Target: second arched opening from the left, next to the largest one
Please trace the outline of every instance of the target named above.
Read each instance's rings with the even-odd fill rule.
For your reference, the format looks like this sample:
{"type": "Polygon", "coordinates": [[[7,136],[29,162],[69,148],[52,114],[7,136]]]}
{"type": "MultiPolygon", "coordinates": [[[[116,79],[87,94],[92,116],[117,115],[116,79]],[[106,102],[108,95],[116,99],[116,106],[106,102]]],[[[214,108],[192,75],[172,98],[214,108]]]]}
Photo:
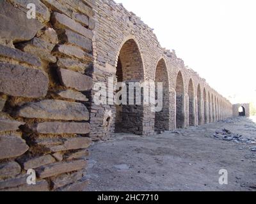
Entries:
{"type": "Polygon", "coordinates": [[[156,97],[157,97],[157,82],[163,83],[163,109],[155,114],[155,130],[169,130],[170,121],[170,96],[169,96],[169,81],[168,72],[164,59],[157,63],[156,67],[156,97]]]}

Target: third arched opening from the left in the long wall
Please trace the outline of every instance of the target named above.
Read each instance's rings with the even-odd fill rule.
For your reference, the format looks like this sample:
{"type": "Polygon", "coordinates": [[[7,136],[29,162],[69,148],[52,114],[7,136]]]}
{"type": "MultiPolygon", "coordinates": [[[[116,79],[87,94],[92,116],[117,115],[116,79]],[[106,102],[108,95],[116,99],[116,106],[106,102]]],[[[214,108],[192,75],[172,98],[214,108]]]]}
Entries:
{"type": "Polygon", "coordinates": [[[179,71],[176,80],[176,128],[184,128],[184,82],[181,72],[179,71]]]}

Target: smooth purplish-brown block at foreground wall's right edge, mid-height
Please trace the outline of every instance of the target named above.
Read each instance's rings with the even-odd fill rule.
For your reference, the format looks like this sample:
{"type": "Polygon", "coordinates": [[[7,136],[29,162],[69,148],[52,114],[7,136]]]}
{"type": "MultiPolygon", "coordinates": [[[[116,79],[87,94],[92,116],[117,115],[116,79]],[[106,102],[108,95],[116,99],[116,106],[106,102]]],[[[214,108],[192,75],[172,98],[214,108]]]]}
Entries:
{"type": "Polygon", "coordinates": [[[61,84],[71,87],[77,91],[88,91],[92,89],[92,78],[68,69],[58,69],[61,84]]]}

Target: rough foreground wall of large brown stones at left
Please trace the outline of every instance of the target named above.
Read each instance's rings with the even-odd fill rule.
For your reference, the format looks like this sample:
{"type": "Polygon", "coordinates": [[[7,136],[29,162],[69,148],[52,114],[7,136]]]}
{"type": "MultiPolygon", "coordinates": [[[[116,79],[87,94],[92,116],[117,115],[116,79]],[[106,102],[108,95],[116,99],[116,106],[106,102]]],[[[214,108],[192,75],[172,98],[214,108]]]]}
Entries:
{"type": "Polygon", "coordinates": [[[81,191],[88,184],[94,6],[0,1],[1,191],[81,191]],[[29,3],[36,19],[27,17],[29,3]],[[26,182],[29,169],[36,185],[26,182]]]}

